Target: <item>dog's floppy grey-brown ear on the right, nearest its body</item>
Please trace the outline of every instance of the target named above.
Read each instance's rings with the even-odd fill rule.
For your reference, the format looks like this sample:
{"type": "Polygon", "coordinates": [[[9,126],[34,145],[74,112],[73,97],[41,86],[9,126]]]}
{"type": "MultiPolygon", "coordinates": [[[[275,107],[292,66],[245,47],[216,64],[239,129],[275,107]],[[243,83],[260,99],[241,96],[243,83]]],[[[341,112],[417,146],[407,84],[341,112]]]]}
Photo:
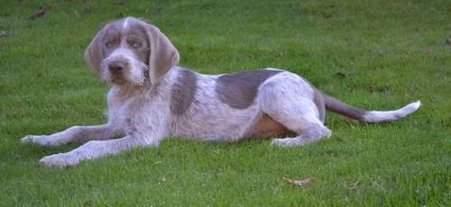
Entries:
{"type": "Polygon", "coordinates": [[[157,27],[146,24],[146,29],[151,44],[149,76],[152,85],[155,85],[171,67],[179,63],[179,51],[157,27]]]}

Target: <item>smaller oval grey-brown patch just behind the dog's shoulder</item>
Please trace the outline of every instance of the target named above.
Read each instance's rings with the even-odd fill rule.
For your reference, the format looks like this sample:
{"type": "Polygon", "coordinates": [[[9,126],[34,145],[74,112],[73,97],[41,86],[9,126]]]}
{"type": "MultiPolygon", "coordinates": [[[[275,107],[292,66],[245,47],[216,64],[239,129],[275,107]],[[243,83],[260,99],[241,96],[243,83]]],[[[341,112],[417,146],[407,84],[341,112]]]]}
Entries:
{"type": "Polygon", "coordinates": [[[196,74],[188,69],[181,69],[176,84],[170,91],[170,111],[176,115],[182,115],[194,100],[198,90],[196,74]]]}

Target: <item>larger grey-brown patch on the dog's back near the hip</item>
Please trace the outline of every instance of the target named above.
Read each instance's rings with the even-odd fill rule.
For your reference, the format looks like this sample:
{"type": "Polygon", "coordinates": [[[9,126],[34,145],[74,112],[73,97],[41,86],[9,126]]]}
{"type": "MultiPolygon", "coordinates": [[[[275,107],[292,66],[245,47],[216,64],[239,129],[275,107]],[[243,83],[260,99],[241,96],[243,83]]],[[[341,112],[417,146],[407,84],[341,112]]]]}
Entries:
{"type": "Polygon", "coordinates": [[[253,103],[262,82],[281,72],[283,71],[266,69],[219,76],[216,94],[222,103],[227,103],[235,109],[245,109],[253,103]]]}

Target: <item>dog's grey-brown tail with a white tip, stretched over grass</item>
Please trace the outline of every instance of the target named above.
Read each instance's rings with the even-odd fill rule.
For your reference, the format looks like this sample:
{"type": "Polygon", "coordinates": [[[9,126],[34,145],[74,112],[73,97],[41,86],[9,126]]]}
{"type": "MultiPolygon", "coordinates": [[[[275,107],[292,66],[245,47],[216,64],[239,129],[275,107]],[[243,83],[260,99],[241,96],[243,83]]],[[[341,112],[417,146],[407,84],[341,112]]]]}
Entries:
{"type": "Polygon", "coordinates": [[[352,105],[338,101],[327,94],[324,94],[324,103],[326,105],[326,109],[331,112],[336,112],[354,120],[367,122],[398,120],[404,116],[409,115],[412,112],[417,111],[417,109],[419,109],[419,106],[421,105],[421,103],[417,101],[407,104],[406,106],[394,111],[365,111],[363,109],[359,109],[352,105]]]}

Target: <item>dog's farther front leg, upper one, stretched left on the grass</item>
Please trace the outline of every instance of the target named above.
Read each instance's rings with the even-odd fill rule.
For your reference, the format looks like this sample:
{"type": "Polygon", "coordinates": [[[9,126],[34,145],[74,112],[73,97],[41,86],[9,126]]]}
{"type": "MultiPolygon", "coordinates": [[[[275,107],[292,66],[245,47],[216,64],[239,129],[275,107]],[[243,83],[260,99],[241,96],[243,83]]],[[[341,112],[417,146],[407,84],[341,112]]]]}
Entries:
{"type": "Polygon", "coordinates": [[[71,142],[85,142],[90,139],[113,139],[117,135],[123,134],[111,124],[73,126],[51,135],[27,135],[21,139],[21,142],[33,142],[41,146],[59,146],[71,142]]]}

